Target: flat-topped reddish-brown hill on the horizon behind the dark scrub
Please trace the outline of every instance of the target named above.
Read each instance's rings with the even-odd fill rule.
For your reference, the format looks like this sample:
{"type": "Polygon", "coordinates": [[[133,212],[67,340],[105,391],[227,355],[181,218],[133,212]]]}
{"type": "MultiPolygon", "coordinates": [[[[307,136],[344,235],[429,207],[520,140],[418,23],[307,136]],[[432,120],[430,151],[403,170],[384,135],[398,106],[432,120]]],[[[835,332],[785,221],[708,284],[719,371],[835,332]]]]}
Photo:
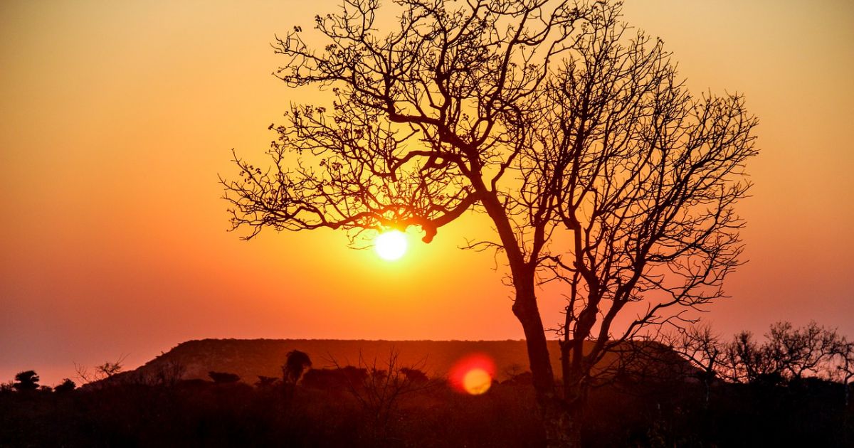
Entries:
{"type": "MultiPolygon", "coordinates": [[[[651,346],[645,344],[644,346],[651,346]]],[[[668,349],[652,345],[660,353],[659,359],[679,369],[687,364],[668,349]]],[[[496,366],[497,379],[504,380],[510,374],[528,370],[528,355],[524,340],[238,340],[205,339],[188,340],[161,354],[138,369],[125,375],[157,375],[170,364],[184,367],[184,379],[208,380],[208,372],[231,372],[240,375],[242,381],[254,383],[258,375],[280,377],[285,356],[291,350],[306,352],[312,359],[313,368],[359,364],[360,356],[366,364],[382,365],[393,350],[398,353],[398,365],[423,366],[430,376],[447,374],[460,358],[472,353],[483,353],[492,358],[496,366]]],[[[560,373],[558,341],[549,341],[549,353],[555,374],[560,373]]],[[[607,364],[615,357],[606,358],[607,364]]],[[[672,369],[672,368],[671,368],[672,369]]]]}

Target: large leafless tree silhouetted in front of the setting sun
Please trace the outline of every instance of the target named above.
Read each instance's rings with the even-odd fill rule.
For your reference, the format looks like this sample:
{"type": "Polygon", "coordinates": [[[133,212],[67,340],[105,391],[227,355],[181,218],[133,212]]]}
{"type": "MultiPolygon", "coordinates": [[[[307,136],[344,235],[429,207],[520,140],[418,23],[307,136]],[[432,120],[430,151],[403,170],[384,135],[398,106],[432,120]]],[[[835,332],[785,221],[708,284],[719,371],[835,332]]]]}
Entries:
{"type": "Polygon", "coordinates": [[[235,157],[240,177],[222,181],[233,227],[251,238],[418,226],[430,242],[464,212],[486,213],[494,238],[470,247],[506,256],[548,443],[578,445],[594,364],[720,297],[739,265],[734,205],[756,120],[740,96],[688,93],[619,3],[395,3],[393,32],[378,30],[377,1],[347,0],[317,17],[323,49],[298,26],[277,39],[278,77],[334,100],[271,126],[272,167],[235,157]],[[542,282],[567,297],[561,388],[542,282]],[[636,317],[617,328],[621,312],[636,317]]]}

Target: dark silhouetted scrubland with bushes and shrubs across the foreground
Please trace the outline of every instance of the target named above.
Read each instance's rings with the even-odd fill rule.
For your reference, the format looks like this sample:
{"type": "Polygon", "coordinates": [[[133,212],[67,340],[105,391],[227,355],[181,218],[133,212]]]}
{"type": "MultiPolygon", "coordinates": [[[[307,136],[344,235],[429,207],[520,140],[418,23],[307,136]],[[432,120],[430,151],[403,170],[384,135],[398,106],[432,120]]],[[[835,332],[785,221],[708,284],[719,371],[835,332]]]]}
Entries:
{"type": "MultiPolygon", "coordinates": [[[[665,337],[693,368],[667,369],[662,357],[664,368],[611,372],[588,397],[582,442],[851,446],[851,342],[816,323],[775,323],[764,336],[694,327],[665,337]]],[[[0,386],[0,446],[545,444],[529,372],[506,369],[471,396],[400,359],[313,369],[292,350],[278,377],[210,371],[209,381],[184,379],[179,365],[118,375],[116,361],[81,387],[41,386],[26,370],[0,386]]]]}

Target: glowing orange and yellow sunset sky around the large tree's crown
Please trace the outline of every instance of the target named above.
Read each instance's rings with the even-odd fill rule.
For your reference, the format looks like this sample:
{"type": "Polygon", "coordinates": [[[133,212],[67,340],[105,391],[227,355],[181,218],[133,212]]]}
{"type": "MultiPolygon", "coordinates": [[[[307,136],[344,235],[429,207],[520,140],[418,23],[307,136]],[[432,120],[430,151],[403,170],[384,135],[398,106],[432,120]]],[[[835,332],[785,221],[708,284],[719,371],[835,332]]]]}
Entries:
{"type": "MultiPolygon", "coordinates": [[[[274,34],[336,1],[0,3],[0,381],[44,384],[202,338],[519,339],[488,232],[466,217],[389,262],[329,230],[229,233],[217,175],[289,102],[274,34]]],[[[694,92],[760,119],[750,262],[708,307],[722,335],[818,323],[854,337],[854,3],[627,0],[694,92]]],[[[544,297],[547,324],[560,301],[544,297]]]]}

